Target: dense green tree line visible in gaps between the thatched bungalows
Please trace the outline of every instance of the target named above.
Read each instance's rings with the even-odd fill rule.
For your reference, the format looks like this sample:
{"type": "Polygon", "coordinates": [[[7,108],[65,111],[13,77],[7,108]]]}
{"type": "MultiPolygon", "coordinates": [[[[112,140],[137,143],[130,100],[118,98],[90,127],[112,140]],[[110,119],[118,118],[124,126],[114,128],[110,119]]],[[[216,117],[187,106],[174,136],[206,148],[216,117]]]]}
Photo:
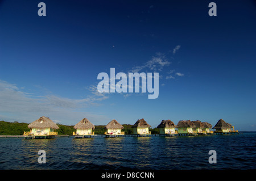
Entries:
{"type": "MultiPolygon", "coordinates": [[[[73,132],[76,131],[74,129],[74,125],[63,125],[57,124],[60,129],[57,129],[58,135],[72,135],[73,132]]],[[[27,127],[28,123],[18,123],[14,121],[13,123],[7,121],[0,121],[0,135],[23,135],[24,131],[30,131],[30,128],[27,127]]],[[[123,129],[122,131],[125,134],[133,134],[133,125],[131,124],[122,124],[123,129]]],[[[106,129],[104,129],[105,125],[96,125],[94,134],[104,134],[106,129]]],[[[157,128],[150,128],[151,134],[159,134],[159,129],[157,128]]]]}

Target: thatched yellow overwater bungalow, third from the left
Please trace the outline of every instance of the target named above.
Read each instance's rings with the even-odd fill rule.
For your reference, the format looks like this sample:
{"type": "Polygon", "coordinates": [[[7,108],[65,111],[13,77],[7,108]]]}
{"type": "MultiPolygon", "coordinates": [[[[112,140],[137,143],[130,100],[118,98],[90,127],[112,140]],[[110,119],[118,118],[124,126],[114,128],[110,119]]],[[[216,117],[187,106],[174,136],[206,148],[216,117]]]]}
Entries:
{"type": "Polygon", "coordinates": [[[107,124],[104,129],[107,129],[105,132],[106,137],[122,137],[125,136],[125,132],[122,132],[123,126],[117,122],[117,120],[112,120],[107,124]]]}

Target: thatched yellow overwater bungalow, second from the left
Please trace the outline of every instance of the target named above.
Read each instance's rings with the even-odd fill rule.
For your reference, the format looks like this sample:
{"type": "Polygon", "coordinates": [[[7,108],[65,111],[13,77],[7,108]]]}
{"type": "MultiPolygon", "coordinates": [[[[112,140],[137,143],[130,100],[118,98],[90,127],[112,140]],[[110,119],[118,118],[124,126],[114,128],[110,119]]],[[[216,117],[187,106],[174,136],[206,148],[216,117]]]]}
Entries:
{"type": "Polygon", "coordinates": [[[76,132],[73,132],[75,138],[91,138],[94,136],[92,129],[95,129],[95,126],[86,118],[79,121],[74,128],[76,129],[76,132]]]}

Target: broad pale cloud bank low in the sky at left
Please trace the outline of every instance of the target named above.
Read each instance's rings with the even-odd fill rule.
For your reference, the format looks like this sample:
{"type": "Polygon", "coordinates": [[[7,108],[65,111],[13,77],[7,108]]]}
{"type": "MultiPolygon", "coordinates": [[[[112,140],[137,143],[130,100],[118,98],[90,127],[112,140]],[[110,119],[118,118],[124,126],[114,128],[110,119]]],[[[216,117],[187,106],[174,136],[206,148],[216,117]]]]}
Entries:
{"type": "Polygon", "coordinates": [[[97,93],[86,99],[61,98],[56,95],[31,96],[20,91],[16,85],[0,80],[0,120],[31,123],[40,116],[49,116],[61,124],[73,121],[75,125],[84,117],[97,122],[107,118],[85,110],[104,99],[108,99],[108,96],[97,93]]]}

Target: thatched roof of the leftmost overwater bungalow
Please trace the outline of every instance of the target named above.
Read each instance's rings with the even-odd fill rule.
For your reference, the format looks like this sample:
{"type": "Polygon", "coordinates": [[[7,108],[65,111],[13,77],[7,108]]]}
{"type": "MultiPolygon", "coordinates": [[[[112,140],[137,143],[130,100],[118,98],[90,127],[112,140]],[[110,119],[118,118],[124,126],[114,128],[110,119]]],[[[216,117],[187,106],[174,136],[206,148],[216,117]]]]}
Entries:
{"type": "Polygon", "coordinates": [[[59,129],[56,123],[53,123],[51,119],[48,117],[40,117],[38,120],[35,120],[34,122],[28,124],[28,128],[53,128],[53,129],[59,129]]]}

